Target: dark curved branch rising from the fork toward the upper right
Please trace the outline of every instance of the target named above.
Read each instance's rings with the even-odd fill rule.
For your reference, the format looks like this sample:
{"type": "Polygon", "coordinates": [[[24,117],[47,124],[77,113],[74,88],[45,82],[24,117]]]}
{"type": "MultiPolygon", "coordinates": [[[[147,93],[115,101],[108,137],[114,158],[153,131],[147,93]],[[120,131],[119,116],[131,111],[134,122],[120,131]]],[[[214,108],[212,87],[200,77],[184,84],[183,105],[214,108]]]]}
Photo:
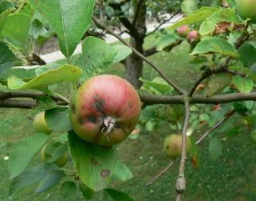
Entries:
{"type": "MultiPolygon", "coordinates": [[[[249,23],[247,22],[247,25],[245,26],[245,30],[247,30],[248,26],[249,26],[249,23]]],[[[247,39],[249,39],[249,33],[247,31],[245,31],[236,40],[236,43],[234,45],[235,48],[238,49],[238,47],[240,47],[242,45],[242,43],[244,43],[244,41],[247,41],[247,39]]],[[[196,81],[196,83],[194,84],[194,86],[190,90],[190,93],[188,94],[188,96],[191,97],[193,95],[194,91],[196,91],[196,87],[198,87],[198,85],[203,80],[207,79],[207,77],[211,76],[212,74],[217,74],[217,73],[220,73],[220,72],[227,72],[228,71],[228,64],[229,64],[230,60],[232,60],[232,57],[228,56],[228,58],[226,58],[225,62],[220,64],[217,68],[207,68],[205,70],[205,72],[202,73],[202,76],[200,77],[200,79],[198,79],[198,81],[196,81]]],[[[232,73],[232,71],[228,71],[228,72],[232,73]]]]}

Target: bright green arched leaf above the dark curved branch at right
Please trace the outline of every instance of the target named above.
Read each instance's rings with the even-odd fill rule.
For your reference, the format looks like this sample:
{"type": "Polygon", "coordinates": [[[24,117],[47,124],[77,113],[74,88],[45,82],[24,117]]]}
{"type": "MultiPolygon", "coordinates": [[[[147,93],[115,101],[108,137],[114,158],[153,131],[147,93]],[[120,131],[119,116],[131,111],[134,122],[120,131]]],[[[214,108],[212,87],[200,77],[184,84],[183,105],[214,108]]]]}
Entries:
{"type": "Polygon", "coordinates": [[[190,55],[197,53],[220,53],[222,55],[230,55],[238,58],[238,51],[227,41],[219,38],[209,38],[200,41],[190,55]]]}

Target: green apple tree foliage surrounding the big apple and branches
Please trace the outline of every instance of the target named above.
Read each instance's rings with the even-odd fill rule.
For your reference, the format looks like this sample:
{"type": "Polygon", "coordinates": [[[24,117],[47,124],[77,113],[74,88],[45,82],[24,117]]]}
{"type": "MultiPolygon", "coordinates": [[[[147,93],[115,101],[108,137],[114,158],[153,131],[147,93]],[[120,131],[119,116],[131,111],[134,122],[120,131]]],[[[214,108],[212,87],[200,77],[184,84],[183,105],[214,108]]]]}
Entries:
{"type": "MultiPolygon", "coordinates": [[[[207,81],[201,86],[195,85],[194,91],[198,93],[197,95],[204,97],[235,93],[244,95],[242,99],[244,101],[234,104],[189,106],[187,109],[192,112],[188,120],[190,126],[184,131],[188,129],[186,133],[190,135],[198,130],[215,127],[227,116],[230,118],[234,112],[236,115],[247,116],[250,129],[255,130],[256,105],[246,99],[247,95],[255,89],[255,25],[238,17],[232,1],[227,2],[228,8],[215,3],[216,7],[201,7],[200,1],[184,1],[181,9],[187,16],[163,30],[156,41],[157,51],[171,51],[173,44],[179,45],[184,40],[177,35],[175,28],[188,24],[198,29],[200,41],[190,45],[190,55],[194,57],[190,62],[202,64],[200,65],[202,78],[207,81]],[[247,42],[244,43],[244,41],[247,42]]],[[[81,140],[74,135],[68,118],[70,98],[81,82],[121,62],[131,54],[131,49],[125,45],[108,45],[104,40],[96,37],[86,37],[82,41],[83,53],[75,65],[72,65],[70,56],[89,29],[94,1],[77,0],[67,3],[57,0],[29,0],[27,3],[17,5],[18,8],[15,8],[7,1],[1,1],[0,4],[0,83],[5,89],[0,91],[0,95],[5,91],[8,92],[7,95],[17,91],[36,93],[37,96],[33,97],[36,101],[32,100],[29,102],[32,105],[24,104],[24,107],[45,110],[47,125],[54,132],[49,137],[37,133],[24,139],[16,149],[12,150],[8,165],[12,179],[9,196],[15,196],[17,192],[29,185],[37,185],[35,192],[39,194],[54,185],[61,184],[62,191],[69,192],[64,194],[63,199],[69,199],[70,194],[77,194],[79,190],[86,199],[89,199],[91,192],[104,191],[104,200],[133,200],[123,192],[107,188],[111,179],[126,181],[133,177],[129,168],[118,159],[117,146],[108,148],[81,140]],[[33,46],[43,45],[55,34],[68,64],[43,64],[41,60],[35,60],[33,46]],[[28,67],[35,62],[40,65],[28,67]],[[14,66],[16,67],[13,68],[14,66]],[[63,90],[64,86],[68,86],[68,89],[65,87],[63,90]],[[62,88],[61,92],[58,88],[62,88]],[[51,157],[45,162],[30,164],[38,157],[37,153],[45,143],[56,140],[62,141],[61,148],[52,148],[52,153],[49,154],[51,157]],[[67,144],[74,169],[66,171],[56,166],[54,162],[66,153],[67,144]],[[68,175],[68,171],[72,174],[68,175]],[[64,181],[64,178],[68,179],[64,181]]],[[[147,5],[148,12],[151,12],[152,16],[156,16],[158,9],[163,10],[161,1],[156,3],[147,1],[147,5]]],[[[168,1],[166,5],[165,11],[173,12],[179,9],[178,1],[168,1]]],[[[125,4],[122,9],[126,6],[128,5],[125,4]]],[[[108,9],[110,7],[106,5],[106,11],[108,9]]],[[[128,7],[125,14],[129,14],[129,10],[128,7]]],[[[179,92],[165,76],[164,79],[156,76],[152,80],[140,78],[140,81],[143,83],[139,90],[141,95],[160,98],[175,97],[175,90],[179,92]]],[[[194,91],[190,91],[190,98],[193,98],[194,91]]],[[[18,96],[18,98],[22,97],[26,96],[18,96]]],[[[20,103],[26,101],[26,99],[12,100],[18,100],[20,103]]],[[[139,132],[135,134],[140,135],[145,130],[156,131],[163,125],[180,133],[184,119],[183,113],[182,106],[146,105],[137,126],[139,132]]],[[[227,138],[234,137],[240,132],[240,128],[234,123],[234,118],[230,118],[224,127],[216,127],[213,135],[209,137],[209,154],[213,160],[218,160],[221,154],[224,154],[222,141],[218,135],[223,132],[227,133],[227,138]]],[[[198,157],[198,143],[194,143],[193,146],[194,151],[188,156],[189,159],[198,157]]]]}

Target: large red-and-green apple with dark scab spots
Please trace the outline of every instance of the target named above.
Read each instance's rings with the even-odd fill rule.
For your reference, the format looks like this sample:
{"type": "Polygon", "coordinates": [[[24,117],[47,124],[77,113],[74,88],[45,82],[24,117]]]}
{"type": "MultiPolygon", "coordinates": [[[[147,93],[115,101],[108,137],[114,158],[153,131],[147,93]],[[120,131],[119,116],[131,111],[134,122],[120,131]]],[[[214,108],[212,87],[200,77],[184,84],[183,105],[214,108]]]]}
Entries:
{"type": "Polygon", "coordinates": [[[140,110],[140,97],[125,79],[98,75],[85,81],[74,95],[70,123],[81,139],[112,146],[135,129],[140,110]]]}

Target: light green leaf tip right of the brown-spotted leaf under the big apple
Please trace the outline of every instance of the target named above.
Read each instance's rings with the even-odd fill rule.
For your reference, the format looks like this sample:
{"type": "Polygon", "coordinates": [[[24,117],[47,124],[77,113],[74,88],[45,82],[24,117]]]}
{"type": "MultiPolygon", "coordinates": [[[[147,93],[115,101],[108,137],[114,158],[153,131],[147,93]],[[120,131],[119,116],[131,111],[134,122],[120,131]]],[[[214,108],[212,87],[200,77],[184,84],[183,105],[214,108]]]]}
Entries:
{"type": "Polygon", "coordinates": [[[118,160],[114,168],[113,178],[126,181],[133,178],[133,173],[131,173],[130,169],[123,162],[118,160]]]}

